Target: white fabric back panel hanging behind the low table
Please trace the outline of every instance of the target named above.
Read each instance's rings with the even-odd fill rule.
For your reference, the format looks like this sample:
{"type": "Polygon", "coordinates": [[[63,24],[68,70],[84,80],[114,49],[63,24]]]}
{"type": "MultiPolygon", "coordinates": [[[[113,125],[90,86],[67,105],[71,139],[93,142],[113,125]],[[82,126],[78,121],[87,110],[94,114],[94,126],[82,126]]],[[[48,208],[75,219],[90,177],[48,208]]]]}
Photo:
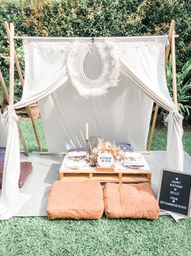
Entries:
{"type": "Polygon", "coordinates": [[[85,147],[85,123],[89,124],[89,136],[131,143],[136,151],[144,151],[153,100],[124,78],[121,75],[118,86],[105,96],[85,99],[68,80],[65,86],[41,99],[39,107],[49,152],[85,147]]]}

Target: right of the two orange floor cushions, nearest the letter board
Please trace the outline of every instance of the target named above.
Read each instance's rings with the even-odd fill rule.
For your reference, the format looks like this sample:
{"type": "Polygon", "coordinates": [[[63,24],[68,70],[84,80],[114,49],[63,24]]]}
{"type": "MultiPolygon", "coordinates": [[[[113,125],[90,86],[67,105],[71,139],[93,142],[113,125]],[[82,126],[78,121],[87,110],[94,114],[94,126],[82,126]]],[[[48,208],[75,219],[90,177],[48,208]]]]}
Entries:
{"type": "Polygon", "coordinates": [[[107,218],[157,219],[159,216],[150,183],[106,183],[104,204],[107,218]]]}

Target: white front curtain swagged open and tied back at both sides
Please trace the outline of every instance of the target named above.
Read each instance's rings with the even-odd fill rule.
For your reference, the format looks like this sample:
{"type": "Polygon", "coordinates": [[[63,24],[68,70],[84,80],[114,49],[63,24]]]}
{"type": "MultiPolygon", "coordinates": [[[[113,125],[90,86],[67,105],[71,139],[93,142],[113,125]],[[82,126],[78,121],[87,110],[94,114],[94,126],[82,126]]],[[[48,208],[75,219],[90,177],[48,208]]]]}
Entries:
{"type": "MultiPolygon", "coordinates": [[[[131,41],[123,44],[115,40],[121,63],[120,68],[128,79],[130,78],[150,99],[170,111],[166,167],[172,170],[183,170],[182,117],[170,98],[165,82],[164,49],[167,38],[156,37],[152,40],[142,38],[143,42],[140,39],[137,41],[133,42],[138,47],[136,49],[132,47],[131,41]]],[[[7,112],[3,114],[7,123],[8,138],[0,199],[0,218],[10,218],[15,214],[15,206],[19,200],[20,147],[14,108],[24,107],[52,94],[60,86],[66,86],[67,51],[71,47],[71,42],[64,41],[28,39],[24,42],[24,94],[19,103],[9,106],[7,112]]],[[[144,114],[142,118],[144,119],[144,114]]]]}

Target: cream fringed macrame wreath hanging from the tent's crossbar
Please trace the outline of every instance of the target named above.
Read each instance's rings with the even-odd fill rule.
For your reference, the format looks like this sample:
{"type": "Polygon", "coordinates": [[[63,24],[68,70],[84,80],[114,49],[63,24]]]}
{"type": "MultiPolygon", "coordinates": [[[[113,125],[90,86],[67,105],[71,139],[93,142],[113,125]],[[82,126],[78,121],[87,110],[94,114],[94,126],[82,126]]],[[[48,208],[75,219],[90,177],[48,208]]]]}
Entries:
{"type": "Polygon", "coordinates": [[[119,77],[119,60],[115,45],[109,42],[96,43],[102,60],[102,73],[98,79],[91,80],[85,76],[83,64],[90,50],[91,43],[75,43],[67,58],[67,72],[73,86],[85,97],[104,95],[106,91],[117,85],[119,77]]]}

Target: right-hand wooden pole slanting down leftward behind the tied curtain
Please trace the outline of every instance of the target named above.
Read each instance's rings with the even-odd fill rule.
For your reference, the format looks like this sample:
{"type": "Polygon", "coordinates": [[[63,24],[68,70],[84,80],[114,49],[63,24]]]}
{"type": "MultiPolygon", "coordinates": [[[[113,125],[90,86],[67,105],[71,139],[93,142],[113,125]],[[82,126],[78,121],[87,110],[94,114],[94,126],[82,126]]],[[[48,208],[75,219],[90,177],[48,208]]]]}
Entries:
{"type": "MultiPolygon", "coordinates": [[[[175,27],[175,20],[171,20],[171,26],[170,26],[169,35],[168,35],[169,44],[167,45],[167,49],[165,51],[165,65],[167,65],[167,60],[168,60],[168,57],[169,57],[169,54],[170,54],[170,48],[172,47],[172,44],[173,44],[172,38],[175,38],[175,37],[173,37],[174,27],[175,27]]],[[[158,115],[158,108],[159,108],[159,106],[158,106],[158,104],[156,104],[155,109],[154,109],[154,117],[153,117],[152,127],[151,127],[151,130],[150,130],[150,141],[149,141],[148,148],[147,148],[148,152],[150,152],[151,144],[153,142],[154,129],[155,129],[155,126],[156,126],[157,115],[158,115]]]]}

